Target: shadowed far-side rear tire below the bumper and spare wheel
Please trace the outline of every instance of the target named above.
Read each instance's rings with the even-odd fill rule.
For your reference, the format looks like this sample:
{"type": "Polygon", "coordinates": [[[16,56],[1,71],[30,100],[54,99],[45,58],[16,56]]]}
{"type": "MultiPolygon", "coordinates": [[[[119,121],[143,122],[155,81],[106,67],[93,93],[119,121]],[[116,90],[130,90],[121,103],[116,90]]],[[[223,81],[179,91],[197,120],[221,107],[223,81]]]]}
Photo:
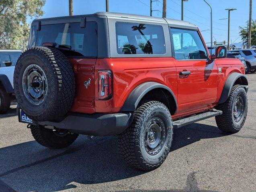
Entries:
{"type": "Polygon", "coordinates": [[[30,125],[31,133],[35,140],[47,148],[60,149],[71,145],[78,134],[66,134],[57,136],[52,129],[44,128],[43,126],[30,125]]]}

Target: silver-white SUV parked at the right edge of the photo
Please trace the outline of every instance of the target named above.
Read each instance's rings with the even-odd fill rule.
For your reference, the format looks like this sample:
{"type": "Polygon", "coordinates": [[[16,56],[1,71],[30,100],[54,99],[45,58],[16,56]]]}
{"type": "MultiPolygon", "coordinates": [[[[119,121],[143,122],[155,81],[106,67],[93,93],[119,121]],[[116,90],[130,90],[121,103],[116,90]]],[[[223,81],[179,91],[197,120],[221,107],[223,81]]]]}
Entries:
{"type": "Polygon", "coordinates": [[[229,52],[240,53],[246,60],[246,66],[248,68],[246,73],[256,71],[256,50],[255,49],[239,49],[231,50],[229,52]]]}

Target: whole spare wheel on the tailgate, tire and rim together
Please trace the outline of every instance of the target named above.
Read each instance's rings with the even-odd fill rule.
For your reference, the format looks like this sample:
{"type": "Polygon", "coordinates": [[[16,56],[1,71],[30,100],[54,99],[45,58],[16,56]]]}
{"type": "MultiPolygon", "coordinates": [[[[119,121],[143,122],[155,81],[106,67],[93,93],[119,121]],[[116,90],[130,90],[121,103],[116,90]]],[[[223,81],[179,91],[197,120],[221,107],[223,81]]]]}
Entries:
{"type": "Polygon", "coordinates": [[[29,118],[57,120],[68,112],[74,101],[73,68],[56,48],[29,48],[17,61],[14,91],[20,108],[29,118]]]}

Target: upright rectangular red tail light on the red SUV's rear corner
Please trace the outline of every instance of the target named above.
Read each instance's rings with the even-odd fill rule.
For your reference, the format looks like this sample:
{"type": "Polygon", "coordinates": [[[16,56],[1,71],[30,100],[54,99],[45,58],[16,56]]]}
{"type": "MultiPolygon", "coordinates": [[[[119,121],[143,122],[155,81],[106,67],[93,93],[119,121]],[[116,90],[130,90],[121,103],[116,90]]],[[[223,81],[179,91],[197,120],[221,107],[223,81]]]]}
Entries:
{"type": "Polygon", "coordinates": [[[98,71],[99,99],[106,100],[112,97],[112,73],[110,70],[98,71]]]}

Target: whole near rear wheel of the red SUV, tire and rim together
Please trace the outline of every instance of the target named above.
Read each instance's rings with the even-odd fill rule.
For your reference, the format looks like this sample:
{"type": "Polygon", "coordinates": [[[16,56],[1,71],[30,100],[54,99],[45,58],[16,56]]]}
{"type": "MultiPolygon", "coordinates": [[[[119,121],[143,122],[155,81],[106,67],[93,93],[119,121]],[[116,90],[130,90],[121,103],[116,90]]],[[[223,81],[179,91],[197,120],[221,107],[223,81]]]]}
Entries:
{"type": "Polygon", "coordinates": [[[168,108],[158,101],[135,110],[129,128],[119,135],[119,150],[127,164],[139,170],[158,168],[172,144],[173,126],[168,108]]]}

